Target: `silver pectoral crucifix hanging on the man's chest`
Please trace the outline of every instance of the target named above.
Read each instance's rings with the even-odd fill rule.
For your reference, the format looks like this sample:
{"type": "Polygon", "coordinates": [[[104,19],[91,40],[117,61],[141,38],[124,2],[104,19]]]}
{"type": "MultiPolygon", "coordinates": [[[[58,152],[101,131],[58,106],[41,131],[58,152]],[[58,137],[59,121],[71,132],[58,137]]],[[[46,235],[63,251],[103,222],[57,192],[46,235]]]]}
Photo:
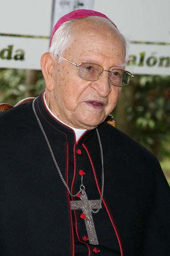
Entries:
{"type": "MultiPolygon", "coordinates": [[[[86,217],[86,218],[84,218],[84,221],[85,221],[86,230],[87,230],[87,234],[88,234],[88,238],[89,238],[89,243],[94,244],[94,245],[99,244],[98,239],[97,239],[95,224],[94,224],[94,220],[92,218],[89,204],[92,209],[97,209],[100,204],[100,201],[99,200],[89,200],[87,202],[87,200],[83,196],[80,198],[82,198],[82,201],[80,201],[80,200],[79,201],[70,201],[71,210],[82,210],[84,217],[86,217]]],[[[100,208],[101,208],[101,206],[100,206],[100,208]]]]}

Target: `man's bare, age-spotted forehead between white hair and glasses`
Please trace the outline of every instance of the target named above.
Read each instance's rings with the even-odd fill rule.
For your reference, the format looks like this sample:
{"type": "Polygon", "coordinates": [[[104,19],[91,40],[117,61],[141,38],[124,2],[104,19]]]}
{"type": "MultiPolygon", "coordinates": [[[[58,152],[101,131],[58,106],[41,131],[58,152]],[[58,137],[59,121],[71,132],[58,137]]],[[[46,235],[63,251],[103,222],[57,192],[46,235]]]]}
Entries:
{"type": "MultiPolygon", "coordinates": [[[[101,28],[90,21],[82,21],[73,26],[69,47],[64,57],[73,62],[95,62],[102,65],[105,60],[115,60],[117,64],[125,62],[125,44],[117,31],[112,28],[101,28]]],[[[78,63],[78,64],[79,64],[78,63]]],[[[112,65],[111,65],[112,66],[112,65]]]]}

